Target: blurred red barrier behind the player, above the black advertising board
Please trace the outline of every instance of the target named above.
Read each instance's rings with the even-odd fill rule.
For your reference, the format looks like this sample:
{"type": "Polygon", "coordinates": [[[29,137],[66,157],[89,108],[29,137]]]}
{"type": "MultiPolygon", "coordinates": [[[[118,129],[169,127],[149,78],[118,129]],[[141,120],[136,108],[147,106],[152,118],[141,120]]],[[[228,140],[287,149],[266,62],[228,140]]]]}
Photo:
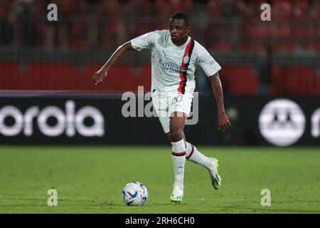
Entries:
{"type": "MultiPolygon", "coordinates": [[[[103,83],[95,86],[92,73],[101,67],[99,63],[87,63],[79,70],[74,63],[31,62],[21,71],[15,62],[0,62],[1,90],[82,90],[82,91],[136,91],[144,86],[146,91],[151,85],[151,65],[144,63],[135,70],[132,64],[122,63],[111,68],[103,83]],[[6,76],[6,77],[5,77],[6,76]]],[[[320,77],[309,66],[273,66],[268,95],[320,95],[320,77]]],[[[201,77],[201,76],[199,76],[201,77]]],[[[203,76],[205,77],[205,76],[203,76]]],[[[255,95],[260,93],[260,78],[247,65],[224,65],[220,71],[225,93],[231,95],[255,95]]],[[[201,84],[197,78],[198,84],[201,84]]],[[[197,90],[209,91],[207,78],[205,86],[197,90]]]]}

